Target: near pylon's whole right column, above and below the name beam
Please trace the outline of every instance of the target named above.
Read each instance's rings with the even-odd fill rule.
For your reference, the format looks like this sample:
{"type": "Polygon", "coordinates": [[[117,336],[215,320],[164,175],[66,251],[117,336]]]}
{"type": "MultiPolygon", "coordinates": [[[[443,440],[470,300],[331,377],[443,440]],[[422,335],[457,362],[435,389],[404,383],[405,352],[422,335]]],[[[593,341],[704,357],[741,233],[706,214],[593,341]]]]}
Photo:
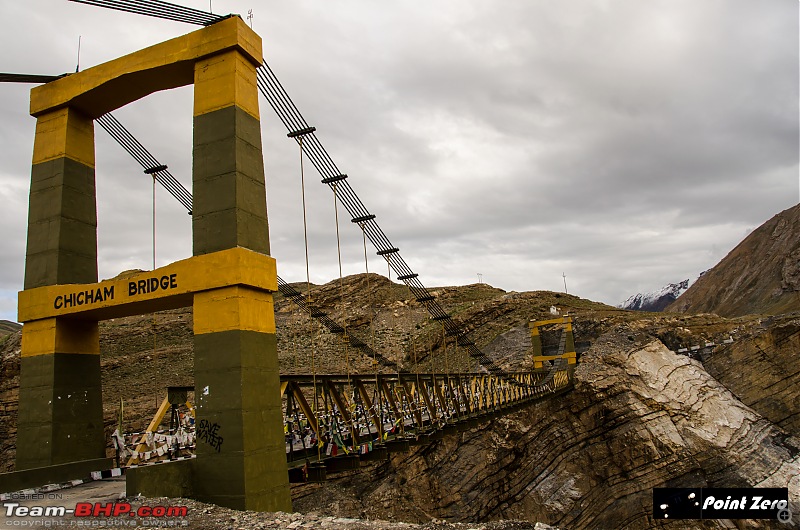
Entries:
{"type": "MultiPolygon", "coordinates": [[[[256,66],[236,50],[195,65],[195,256],[269,253],[256,66]]],[[[194,296],[199,500],[291,511],[272,303],[244,286],[194,296]]]]}

